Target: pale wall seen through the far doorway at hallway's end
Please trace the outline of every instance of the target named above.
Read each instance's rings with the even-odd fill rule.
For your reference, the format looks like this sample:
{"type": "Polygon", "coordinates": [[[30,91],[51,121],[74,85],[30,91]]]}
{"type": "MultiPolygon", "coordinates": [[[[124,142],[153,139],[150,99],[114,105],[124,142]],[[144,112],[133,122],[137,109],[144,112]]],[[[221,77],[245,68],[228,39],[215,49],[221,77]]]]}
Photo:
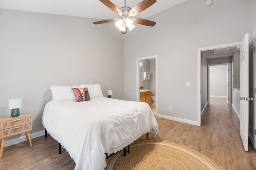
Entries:
{"type": "Polygon", "coordinates": [[[227,65],[209,66],[210,97],[227,96],[227,65]]]}

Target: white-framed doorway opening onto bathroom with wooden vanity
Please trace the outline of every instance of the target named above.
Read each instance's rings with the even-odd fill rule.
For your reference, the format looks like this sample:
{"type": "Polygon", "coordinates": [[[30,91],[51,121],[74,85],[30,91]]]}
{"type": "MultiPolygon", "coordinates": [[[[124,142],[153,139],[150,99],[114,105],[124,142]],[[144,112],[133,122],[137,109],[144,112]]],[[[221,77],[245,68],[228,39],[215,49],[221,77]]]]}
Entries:
{"type": "Polygon", "coordinates": [[[157,117],[157,56],[137,58],[137,101],[149,104],[157,117]]]}

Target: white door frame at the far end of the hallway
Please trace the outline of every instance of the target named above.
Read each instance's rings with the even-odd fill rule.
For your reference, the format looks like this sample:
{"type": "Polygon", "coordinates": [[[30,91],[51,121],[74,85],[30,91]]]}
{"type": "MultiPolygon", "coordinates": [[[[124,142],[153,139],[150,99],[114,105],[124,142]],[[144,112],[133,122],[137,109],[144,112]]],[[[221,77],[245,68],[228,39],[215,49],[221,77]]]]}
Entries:
{"type": "Polygon", "coordinates": [[[228,105],[232,106],[232,87],[231,87],[231,63],[222,63],[222,64],[208,64],[207,65],[207,100],[208,100],[208,104],[210,104],[210,66],[220,66],[220,65],[228,65],[229,66],[229,74],[228,74],[228,83],[229,83],[229,90],[228,90],[228,96],[229,97],[229,101],[228,101],[228,105]]]}

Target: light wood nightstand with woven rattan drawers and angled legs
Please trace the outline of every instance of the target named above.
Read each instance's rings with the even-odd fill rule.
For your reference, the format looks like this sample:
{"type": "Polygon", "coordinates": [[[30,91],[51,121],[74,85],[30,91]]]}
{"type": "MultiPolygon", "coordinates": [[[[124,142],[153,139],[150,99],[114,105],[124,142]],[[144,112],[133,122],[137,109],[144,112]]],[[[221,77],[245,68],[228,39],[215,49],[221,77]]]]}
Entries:
{"type": "Polygon", "coordinates": [[[0,159],[2,158],[4,150],[4,142],[6,137],[18,135],[20,133],[26,133],[27,141],[30,143],[30,147],[33,147],[30,133],[32,130],[31,115],[29,113],[22,113],[18,117],[1,117],[1,148],[0,148],[0,159]]]}

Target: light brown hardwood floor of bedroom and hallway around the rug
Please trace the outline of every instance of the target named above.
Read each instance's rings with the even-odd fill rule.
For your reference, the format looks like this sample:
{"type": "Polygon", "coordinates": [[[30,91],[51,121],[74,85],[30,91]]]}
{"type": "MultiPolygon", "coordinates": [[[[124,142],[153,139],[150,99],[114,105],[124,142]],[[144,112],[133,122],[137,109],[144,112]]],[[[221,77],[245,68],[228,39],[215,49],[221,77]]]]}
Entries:
{"type": "MultiPolygon", "coordinates": [[[[156,138],[180,143],[212,158],[227,170],[256,170],[256,150],[252,144],[244,151],[239,135],[239,120],[223,98],[211,98],[202,115],[202,126],[157,118],[160,131],[156,138]]],[[[141,139],[145,139],[143,135],[141,139]]],[[[72,170],[75,163],[48,135],[32,139],[33,148],[22,142],[4,148],[1,170],[72,170]]],[[[132,150],[130,151],[132,154],[132,150]]]]}

